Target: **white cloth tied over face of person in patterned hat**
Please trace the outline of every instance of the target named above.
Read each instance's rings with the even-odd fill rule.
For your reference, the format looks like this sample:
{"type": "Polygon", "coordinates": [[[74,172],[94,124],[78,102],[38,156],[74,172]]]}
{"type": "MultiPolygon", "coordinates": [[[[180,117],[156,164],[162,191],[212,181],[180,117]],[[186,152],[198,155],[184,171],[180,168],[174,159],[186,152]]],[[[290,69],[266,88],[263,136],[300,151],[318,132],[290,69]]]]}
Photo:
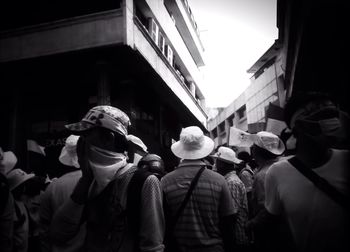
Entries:
{"type": "Polygon", "coordinates": [[[115,174],[126,164],[122,153],[107,151],[96,146],[89,146],[89,164],[97,185],[104,188],[112,181],[115,174]]]}

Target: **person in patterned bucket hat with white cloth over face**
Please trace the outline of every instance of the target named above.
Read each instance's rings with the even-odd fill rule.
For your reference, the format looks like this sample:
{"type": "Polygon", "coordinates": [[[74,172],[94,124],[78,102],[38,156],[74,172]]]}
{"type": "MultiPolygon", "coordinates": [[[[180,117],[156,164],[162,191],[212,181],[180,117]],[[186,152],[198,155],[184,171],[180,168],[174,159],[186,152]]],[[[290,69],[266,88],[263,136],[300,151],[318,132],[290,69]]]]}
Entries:
{"type": "Polygon", "coordinates": [[[80,135],[77,155],[82,177],[53,218],[55,243],[74,237],[85,221],[84,251],[163,251],[162,193],[156,176],[148,176],[142,186],[138,233],[128,225],[127,190],[137,170],[125,153],[129,125],[123,111],[97,106],[81,122],[66,126],[80,135]]]}

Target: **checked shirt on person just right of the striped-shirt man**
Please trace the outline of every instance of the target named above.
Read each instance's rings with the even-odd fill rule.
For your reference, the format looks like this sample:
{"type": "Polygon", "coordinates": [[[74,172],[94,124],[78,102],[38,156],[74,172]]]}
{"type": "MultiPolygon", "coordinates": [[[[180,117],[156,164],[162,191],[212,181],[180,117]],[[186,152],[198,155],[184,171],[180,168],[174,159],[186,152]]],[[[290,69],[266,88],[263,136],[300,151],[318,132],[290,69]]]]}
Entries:
{"type": "Polygon", "coordinates": [[[235,225],[236,243],[238,245],[248,245],[248,237],[245,232],[245,224],[248,220],[248,201],[245,186],[237,176],[236,171],[227,173],[225,179],[231,192],[233,208],[237,216],[235,225]]]}

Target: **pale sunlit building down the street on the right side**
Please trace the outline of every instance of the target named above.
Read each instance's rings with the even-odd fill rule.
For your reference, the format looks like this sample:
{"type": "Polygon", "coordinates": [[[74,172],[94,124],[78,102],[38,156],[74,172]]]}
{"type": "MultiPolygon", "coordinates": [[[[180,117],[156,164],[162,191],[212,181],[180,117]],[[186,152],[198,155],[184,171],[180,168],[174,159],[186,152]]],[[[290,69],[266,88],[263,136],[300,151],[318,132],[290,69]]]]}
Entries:
{"type": "Polygon", "coordinates": [[[253,74],[248,88],[214,119],[208,129],[215,145],[228,145],[232,126],[249,133],[265,130],[269,104],[284,106],[286,89],[281,67],[280,45],[276,41],[247,71],[253,74]]]}

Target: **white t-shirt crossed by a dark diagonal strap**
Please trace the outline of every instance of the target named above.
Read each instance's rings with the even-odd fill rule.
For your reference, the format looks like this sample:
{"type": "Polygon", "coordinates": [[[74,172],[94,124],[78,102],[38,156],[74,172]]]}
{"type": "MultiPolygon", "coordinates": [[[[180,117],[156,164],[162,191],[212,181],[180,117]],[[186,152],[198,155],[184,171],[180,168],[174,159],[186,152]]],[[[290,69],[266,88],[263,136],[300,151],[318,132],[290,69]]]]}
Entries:
{"type": "MultiPolygon", "coordinates": [[[[332,149],[331,159],[314,169],[348,195],[349,151],[332,149]]],[[[266,209],[284,215],[299,251],[348,251],[349,216],[287,160],[273,164],[265,179],[266,209]]]]}

